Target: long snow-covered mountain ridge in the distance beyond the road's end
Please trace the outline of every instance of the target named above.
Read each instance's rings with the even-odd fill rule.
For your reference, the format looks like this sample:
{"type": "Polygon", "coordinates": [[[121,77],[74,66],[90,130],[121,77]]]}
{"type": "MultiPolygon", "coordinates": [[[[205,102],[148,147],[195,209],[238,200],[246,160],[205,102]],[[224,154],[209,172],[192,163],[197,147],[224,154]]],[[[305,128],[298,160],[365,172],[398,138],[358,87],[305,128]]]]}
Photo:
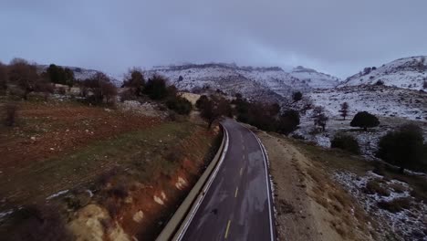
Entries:
{"type": "Polygon", "coordinates": [[[307,93],[312,89],[333,88],[338,84],[338,78],[309,68],[295,68],[288,73],[278,67],[255,68],[213,63],[161,66],[146,71],[147,76],[155,73],[168,78],[178,89],[193,91],[209,87],[232,95],[242,93],[258,100],[283,100],[295,91],[307,93]]]}

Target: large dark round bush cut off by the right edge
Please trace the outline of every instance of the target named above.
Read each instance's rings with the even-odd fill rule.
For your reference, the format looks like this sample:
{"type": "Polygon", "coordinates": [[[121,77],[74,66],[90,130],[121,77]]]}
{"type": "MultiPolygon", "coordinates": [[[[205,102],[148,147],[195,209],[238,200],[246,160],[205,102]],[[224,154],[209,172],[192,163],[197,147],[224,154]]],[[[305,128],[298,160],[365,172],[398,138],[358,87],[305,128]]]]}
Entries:
{"type": "Polygon", "coordinates": [[[398,165],[401,172],[406,168],[425,169],[427,145],[423,144],[422,129],[416,125],[403,125],[380,138],[377,157],[398,165]]]}

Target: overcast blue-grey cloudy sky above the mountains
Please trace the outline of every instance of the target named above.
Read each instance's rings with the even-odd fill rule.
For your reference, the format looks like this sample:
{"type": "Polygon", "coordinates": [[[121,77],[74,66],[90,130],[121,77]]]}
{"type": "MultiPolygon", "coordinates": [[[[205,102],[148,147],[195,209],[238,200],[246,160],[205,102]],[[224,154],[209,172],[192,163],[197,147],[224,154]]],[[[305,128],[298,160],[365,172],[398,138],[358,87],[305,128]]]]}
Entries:
{"type": "Polygon", "coordinates": [[[427,55],[425,0],[1,0],[0,60],[120,74],[185,62],[348,77],[427,55]]]}

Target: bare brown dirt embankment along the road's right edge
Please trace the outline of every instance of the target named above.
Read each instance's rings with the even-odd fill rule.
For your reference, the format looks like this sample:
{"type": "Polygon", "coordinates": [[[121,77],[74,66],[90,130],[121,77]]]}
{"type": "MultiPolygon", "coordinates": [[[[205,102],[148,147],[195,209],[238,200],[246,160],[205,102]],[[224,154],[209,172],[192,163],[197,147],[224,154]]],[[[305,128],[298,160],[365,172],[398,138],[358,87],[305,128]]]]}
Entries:
{"type": "Polygon", "coordinates": [[[280,240],[375,240],[370,218],[324,166],[282,137],[258,135],[269,155],[280,240]]]}

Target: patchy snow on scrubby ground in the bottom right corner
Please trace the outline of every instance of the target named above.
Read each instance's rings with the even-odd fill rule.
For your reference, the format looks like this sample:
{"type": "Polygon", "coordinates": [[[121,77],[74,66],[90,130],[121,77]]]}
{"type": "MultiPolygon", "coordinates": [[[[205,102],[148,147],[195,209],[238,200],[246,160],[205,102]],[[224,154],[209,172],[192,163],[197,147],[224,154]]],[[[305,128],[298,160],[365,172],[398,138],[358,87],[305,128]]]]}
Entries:
{"type": "MultiPolygon", "coordinates": [[[[371,215],[375,215],[384,221],[379,224],[382,230],[391,230],[395,236],[403,240],[427,240],[427,204],[411,198],[411,187],[407,183],[397,180],[382,180],[382,176],[372,172],[366,173],[365,176],[358,176],[349,172],[335,173],[334,178],[338,183],[344,185],[371,215]],[[383,196],[365,192],[367,183],[372,180],[383,181],[384,183],[381,186],[389,190],[390,195],[383,196]],[[390,185],[393,183],[401,185],[404,191],[399,192],[391,188],[390,185]],[[391,202],[397,198],[410,198],[411,207],[392,213],[378,205],[379,202],[391,202]]],[[[380,233],[385,235],[384,232],[380,233]]]]}

